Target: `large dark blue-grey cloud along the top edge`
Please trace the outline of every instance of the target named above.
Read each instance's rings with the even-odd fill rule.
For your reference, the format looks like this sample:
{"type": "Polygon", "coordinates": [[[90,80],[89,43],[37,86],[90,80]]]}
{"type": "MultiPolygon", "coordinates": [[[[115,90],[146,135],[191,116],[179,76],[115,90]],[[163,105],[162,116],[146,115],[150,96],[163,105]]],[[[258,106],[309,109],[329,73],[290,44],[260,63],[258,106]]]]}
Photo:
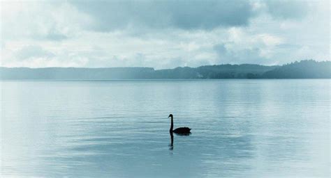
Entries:
{"type": "Polygon", "coordinates": [[[246,26],[253,16],[249,1],[71,1],[94,18],[96,31],[126,28],[185,30],[246,26]]]}

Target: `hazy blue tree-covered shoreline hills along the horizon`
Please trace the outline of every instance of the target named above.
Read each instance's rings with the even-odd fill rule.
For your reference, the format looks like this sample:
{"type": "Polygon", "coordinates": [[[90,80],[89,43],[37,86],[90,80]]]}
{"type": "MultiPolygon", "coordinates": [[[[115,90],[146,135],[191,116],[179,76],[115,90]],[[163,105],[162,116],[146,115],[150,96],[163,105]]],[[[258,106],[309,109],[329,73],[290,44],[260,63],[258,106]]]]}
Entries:
{"type": "Polygon", "coordinates": [[[330,79],[331,61],[302,60],[286,65],[205,65],[154,70],[151,67],[75,68],[0,67],[0,79],[330,79]]]}

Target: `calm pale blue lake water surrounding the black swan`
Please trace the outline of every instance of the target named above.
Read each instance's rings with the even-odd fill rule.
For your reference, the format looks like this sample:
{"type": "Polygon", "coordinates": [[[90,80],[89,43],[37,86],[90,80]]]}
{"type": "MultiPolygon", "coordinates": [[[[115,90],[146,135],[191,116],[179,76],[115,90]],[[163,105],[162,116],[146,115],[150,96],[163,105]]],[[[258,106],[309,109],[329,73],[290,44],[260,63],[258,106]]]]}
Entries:
{"type": "Polygon", "coordinates": [[[0,83],[1,177],[330,177],[328,79],[0,83]]]}

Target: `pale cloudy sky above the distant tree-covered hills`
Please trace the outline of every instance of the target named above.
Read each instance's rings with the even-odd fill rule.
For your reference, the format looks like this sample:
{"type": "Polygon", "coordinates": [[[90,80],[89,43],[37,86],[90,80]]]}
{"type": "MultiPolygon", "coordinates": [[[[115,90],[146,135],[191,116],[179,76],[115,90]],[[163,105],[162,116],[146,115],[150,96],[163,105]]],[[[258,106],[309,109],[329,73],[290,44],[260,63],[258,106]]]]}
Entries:
{"type": "Polygon", "coordinates": [[[330,2],[1,1],[3,67],[330,60],[330,2]]]}

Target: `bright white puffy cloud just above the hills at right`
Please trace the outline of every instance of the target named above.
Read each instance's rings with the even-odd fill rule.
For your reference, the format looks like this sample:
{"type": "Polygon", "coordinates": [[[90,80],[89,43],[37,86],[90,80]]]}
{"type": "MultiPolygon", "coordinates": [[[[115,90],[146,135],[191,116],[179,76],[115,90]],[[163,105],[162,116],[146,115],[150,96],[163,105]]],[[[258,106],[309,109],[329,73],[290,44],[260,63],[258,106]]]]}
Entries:
{"type": "Polygon", "coordinates": [[[251,34],[243,29],[231,28],[228,38],[214,45],[219,63],[272,64],[284,40],[269,33],[251,34]]]}

